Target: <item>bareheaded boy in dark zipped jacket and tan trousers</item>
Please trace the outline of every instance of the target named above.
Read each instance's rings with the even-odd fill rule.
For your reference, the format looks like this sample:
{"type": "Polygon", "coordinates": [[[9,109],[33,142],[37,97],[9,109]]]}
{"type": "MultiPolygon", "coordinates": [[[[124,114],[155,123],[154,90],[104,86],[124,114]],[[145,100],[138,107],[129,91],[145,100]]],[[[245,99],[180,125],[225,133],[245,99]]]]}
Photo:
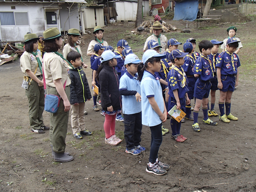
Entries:
{"type": "Polygon", "coordinates": [[[81,55],[79,52],[71,51],[67,54],[67,61],[73,67],[69,66],[70,75],[70,104],[71,104],[71,126],[73,135],[76,139],[82,139],[82,135],[91,135],[92,132],[86,130],[84,122],[85,102],[92,98],[90,87],[81,67],[81,55]]]}

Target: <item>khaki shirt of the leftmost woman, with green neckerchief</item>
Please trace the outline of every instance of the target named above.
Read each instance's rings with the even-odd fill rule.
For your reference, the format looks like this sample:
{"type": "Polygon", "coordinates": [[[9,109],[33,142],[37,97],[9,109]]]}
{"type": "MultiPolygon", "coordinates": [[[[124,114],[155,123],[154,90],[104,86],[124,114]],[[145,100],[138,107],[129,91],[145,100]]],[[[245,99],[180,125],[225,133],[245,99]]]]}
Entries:
{"type": "MultiPolygon", "coordinates": [[[[43,61],[43,59],[39,53],[38,53],[38,58],[40,59],[40,61],[43,61]]],[[[29,75],[26,74],[26,70],[32,71],[32,73],[35,73],[35,76],[42,75],[41,70],[38,66],[36,57],[34,55],[32,55],[32,53],[30,53],[30,52],[25,51],[20,56],[20,68],[21,68],[22,73],[24,73],[24,76],[27,76],[27,77],[29,77],[29,75]],[[38,67],[38,68],[35,73],[36,67],[38,67]]]]}

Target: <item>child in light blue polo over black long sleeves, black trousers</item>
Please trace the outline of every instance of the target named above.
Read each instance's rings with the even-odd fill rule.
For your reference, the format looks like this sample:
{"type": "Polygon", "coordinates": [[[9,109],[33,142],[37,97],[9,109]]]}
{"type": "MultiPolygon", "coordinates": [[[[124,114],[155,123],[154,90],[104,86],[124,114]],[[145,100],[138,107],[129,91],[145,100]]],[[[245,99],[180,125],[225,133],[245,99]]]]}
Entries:
{"type": "Polygon", "coordinates": [[[120,79],[119,93],[122,95],[122,111],[125,123],[126,153],[138,155],[145,148],[140,145],[141,141],[141,96],[140,83],[137,80],[137,67],[142,61],[137,55],[129,54],[125,58],[127,71],[120,79]]]}

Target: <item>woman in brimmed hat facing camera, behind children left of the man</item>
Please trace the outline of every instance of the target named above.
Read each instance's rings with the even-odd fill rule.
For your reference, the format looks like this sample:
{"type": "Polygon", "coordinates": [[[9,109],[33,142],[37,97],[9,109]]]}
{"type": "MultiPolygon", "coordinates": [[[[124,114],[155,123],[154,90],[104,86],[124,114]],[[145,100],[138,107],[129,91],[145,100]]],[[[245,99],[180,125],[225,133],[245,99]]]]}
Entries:
{"type": "Polygon", "coordinates": [[[91,41],[88,46],[88,49],[87,49],[88,56],[95,54],[94,45],[102,44],[104,47],[108,46],[107,41],[103,40],[103,32],[104,32],[104,30],[100,26],[94,27],[93,34],[95,35],[95,39],[93,41],[91,41]]]}

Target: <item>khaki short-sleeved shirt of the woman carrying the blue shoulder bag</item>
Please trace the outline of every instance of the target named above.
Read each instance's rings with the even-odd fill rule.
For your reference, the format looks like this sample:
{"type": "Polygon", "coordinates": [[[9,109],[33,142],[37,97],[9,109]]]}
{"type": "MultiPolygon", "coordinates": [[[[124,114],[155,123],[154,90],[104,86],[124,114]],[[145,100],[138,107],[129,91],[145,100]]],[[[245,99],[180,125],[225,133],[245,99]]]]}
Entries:
{"type": "Polygon", "coordinates": [[[66,86],[70,85],[71,81],[68,75],[68,65],[63,59],[54,52],[44,53],[44,76],[46,84],[50,87],[55,87],[54,80],[61,79],[61,83],[66,86]]]}

